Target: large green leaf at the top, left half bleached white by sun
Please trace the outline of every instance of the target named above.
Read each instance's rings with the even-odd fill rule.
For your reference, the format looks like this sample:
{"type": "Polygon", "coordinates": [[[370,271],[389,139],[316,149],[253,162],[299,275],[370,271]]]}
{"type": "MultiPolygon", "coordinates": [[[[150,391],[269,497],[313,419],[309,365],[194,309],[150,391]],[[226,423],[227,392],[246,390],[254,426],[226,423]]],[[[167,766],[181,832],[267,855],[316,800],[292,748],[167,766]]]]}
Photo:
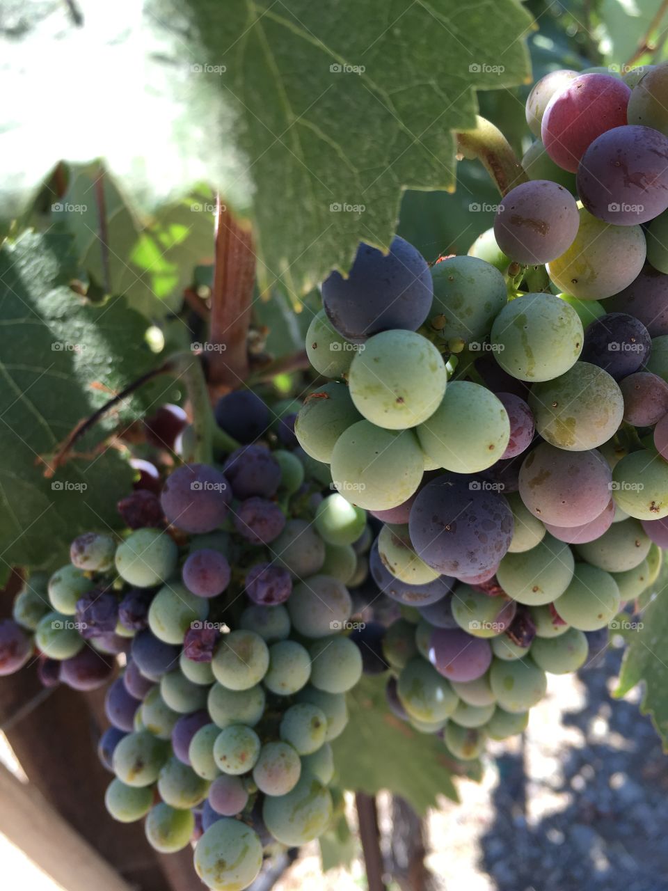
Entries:
{"type": "Polygon", "coordinates": [[[207,182],[252,220],[263,290],[304,293],[360,240],[387,246],[405,188],[452,188],[475,91],[529,77],[517,0],[79,0],[80,21],[7,5],[4,212],[59,159],[102,157],[142,208],[207,182]],[[73,85],[83,126],[63,114],[73,85]]]}

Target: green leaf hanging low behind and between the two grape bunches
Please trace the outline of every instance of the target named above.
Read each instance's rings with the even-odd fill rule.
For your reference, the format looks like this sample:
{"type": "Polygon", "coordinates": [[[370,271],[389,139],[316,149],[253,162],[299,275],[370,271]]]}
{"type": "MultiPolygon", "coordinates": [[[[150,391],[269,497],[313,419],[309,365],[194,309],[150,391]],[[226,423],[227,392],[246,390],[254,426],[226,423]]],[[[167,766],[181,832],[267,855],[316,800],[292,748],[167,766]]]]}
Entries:
{"type": "MultiPolygon", "coordinates": [[[[460,767],[443,740],[419,733],[390,712],[385,698],[387,676],[364,675],[348,694],[350,720],[332,742],[338,785],[375,795],[387,789],[424,814],[436,796],[459,801],[452,772],[460,767]]],[[[477,762],[463,770],[475,775],[477,762]]]]}

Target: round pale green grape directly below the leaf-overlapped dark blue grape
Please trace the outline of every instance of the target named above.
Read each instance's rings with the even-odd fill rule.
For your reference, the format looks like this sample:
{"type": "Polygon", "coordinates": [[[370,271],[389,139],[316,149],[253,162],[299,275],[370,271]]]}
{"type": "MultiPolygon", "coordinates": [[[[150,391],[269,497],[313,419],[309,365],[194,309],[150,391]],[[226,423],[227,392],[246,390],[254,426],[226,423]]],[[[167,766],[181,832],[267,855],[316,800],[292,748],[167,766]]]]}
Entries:
{"type": "MultiPolygon", "coordinates": [[[[505,286],[503,291],[505,297],[505,286]]],[[[403,430],[427,421],[436,411],[447,380],[443,358],[430,340],[416,331],[382,331],[361,345],[354,356],[350,396],[367,421],[384,429],[403,430]]]]}

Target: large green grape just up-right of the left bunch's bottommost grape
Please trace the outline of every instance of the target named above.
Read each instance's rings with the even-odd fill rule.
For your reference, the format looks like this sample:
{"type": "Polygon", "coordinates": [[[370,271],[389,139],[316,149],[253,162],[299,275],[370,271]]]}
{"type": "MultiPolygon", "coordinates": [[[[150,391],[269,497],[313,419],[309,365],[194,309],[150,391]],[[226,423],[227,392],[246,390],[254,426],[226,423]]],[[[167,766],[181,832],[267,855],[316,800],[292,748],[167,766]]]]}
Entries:
{"type": "Polygon", "coordinates": [[[313,775],[303,776],[288,795],[266,797],[262,816],[266,828],[281,845],[305,845],[330,825],[330,792],[313,775]]]}

